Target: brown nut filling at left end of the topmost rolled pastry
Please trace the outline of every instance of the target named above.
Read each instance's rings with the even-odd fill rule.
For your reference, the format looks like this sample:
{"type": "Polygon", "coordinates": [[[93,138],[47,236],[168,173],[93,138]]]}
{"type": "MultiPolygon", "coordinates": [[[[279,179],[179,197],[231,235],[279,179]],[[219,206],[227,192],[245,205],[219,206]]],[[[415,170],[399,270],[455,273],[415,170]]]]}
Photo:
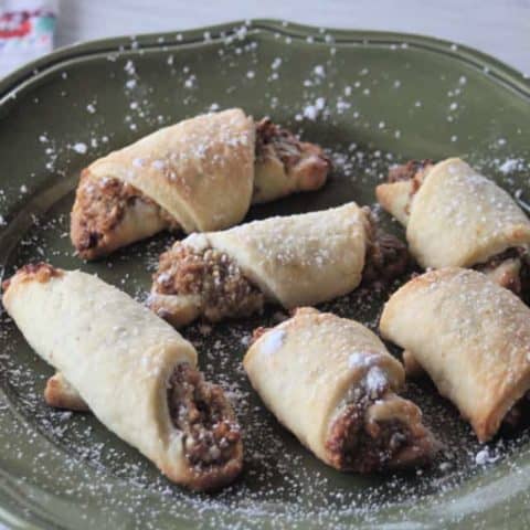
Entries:
{"type": "Polygon", "coordinates": [[[177,227],[171,215],[127,182],[114,178],[94,180],[88,176],[82,176],[76,202],[83,215],[75,215],[72,219],[72,231],[77,234],[75,241],[77,251],[96,248],[105,234],[113,231],[124,219],[126,211],[140,201],[158,209],[160,216],[167,220],[168,226],[177,227]]]}

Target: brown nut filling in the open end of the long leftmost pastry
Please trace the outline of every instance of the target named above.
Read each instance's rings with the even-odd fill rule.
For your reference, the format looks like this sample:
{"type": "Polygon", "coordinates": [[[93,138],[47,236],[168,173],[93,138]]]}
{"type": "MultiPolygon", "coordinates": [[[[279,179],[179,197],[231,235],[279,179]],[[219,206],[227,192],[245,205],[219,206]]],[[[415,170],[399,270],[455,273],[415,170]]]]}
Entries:
{"type": "Polygon", "coordinates": [[[198,470],[222,467],[237,457],[240,426],[223,390],[204,381],[189,364],[176,368],[169,380],[171,421],[183,433],[188,462],[198,470]]]}

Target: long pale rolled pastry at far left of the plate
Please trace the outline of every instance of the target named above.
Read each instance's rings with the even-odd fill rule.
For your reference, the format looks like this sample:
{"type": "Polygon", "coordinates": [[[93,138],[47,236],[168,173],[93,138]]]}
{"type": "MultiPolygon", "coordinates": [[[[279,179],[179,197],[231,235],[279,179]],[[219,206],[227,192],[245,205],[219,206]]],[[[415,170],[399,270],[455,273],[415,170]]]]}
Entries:
{"type": "Polygon", "coordinates": [[[96,276],[46,264],[3,285],[3,305],[31,347],[110,431],[192,489],[232,481],[242,442],[221,388],[171,326],[96,276]]]}

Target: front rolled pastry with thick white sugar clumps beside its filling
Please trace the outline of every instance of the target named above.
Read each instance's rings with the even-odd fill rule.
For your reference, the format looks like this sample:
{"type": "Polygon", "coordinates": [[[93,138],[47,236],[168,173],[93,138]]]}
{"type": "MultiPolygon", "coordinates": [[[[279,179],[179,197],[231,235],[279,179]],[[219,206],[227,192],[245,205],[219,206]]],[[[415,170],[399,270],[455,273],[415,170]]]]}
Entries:
{"type": "Polygon", "coordinates": [[[267,409],[337,469],[418,465],[438,447],[420,409],[396,395],[403,367],[359,322],[298,309],[256,330],[243,364],[267,409]]]}

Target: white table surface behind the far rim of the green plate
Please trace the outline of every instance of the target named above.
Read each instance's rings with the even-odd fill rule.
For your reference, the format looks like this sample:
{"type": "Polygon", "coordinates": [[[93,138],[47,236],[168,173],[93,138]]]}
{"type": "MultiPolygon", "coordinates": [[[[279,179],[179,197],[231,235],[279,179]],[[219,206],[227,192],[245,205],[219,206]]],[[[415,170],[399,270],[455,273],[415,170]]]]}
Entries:
{"type": "Polygon", "coordinates": [[[530,0],[61,0],[56,44],[251,18],[423,33],[530,74],[530,0]]]}

